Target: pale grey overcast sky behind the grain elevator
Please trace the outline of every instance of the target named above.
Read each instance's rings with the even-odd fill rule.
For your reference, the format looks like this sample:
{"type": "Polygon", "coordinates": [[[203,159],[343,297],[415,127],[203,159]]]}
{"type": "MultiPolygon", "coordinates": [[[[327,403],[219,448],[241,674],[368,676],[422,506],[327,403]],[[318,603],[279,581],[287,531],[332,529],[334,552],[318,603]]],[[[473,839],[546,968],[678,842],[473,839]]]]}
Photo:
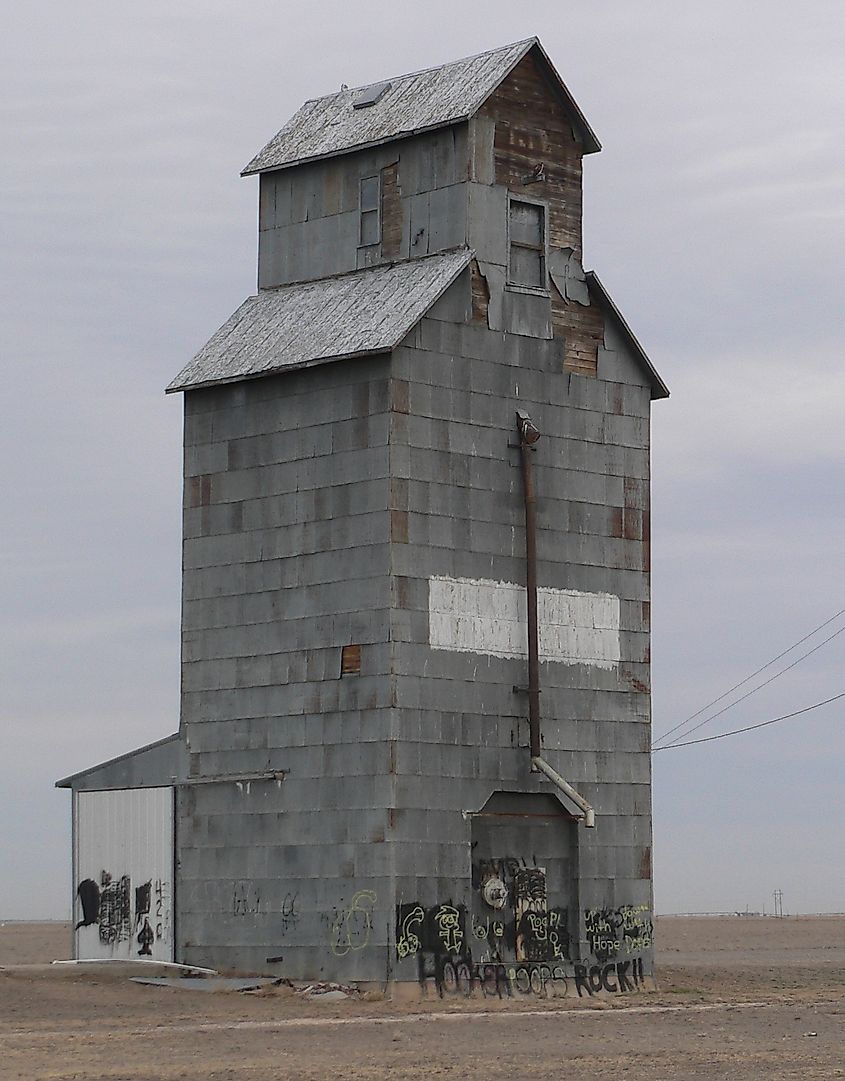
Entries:
{"type": "MultiPolygon", "coordinates": [[[[69,912],[53,782],[178,725],[182,400],[163,388],[255,290],[240,169],[307,97],[534,34],[605,147],[586,264],[672,390],[653,415],[655,732],[845,608],[841,0],[14,5],[0,917],[69,912]]],[[[845,691],[844,658],[842,635],[696,735],[845,691]]],[[[844,716],[655,757],[658,911],[770,911],[776,889],[845,909],[844,716]]]]}

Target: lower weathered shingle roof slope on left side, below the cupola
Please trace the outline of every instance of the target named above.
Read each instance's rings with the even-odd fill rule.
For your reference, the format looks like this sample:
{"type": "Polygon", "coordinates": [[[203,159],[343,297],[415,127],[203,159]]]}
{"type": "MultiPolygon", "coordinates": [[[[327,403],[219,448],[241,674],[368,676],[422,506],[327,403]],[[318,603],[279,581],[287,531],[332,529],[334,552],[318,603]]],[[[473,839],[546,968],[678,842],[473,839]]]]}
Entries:
{"type": "Polygon", "coordinates": [[[389,352],[469,264],[467,248],[263,290],[238,308],[167,392],[389,352]]]}

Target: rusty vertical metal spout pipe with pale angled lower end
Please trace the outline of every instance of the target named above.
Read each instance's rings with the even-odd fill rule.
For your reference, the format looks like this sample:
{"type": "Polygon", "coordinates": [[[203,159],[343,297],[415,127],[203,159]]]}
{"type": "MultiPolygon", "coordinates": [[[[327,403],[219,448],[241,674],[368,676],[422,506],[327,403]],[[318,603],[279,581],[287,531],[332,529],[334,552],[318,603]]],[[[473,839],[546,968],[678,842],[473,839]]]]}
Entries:
{"type": "Polygon", "coordinates": [[[522,462],[522,491],[525,501],[525,591],[528,618],[528,745],[531,768],[542,773],[584,811],[584,825],[595,826],[595,812],[587,800],[542,758],[540,745],[540,644],[537,619],[537,516],[534,495],[534,472],[531,455],[534,443],[540,438],[539,429],[527,413],[517,411],[517,431],[520,437],[522,462]]]}

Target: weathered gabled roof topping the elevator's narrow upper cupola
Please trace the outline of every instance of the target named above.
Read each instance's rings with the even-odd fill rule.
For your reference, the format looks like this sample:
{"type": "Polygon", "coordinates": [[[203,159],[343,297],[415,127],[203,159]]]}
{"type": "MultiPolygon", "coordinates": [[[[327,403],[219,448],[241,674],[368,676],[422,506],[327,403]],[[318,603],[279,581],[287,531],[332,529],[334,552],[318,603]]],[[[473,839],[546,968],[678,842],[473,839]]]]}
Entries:
{"type": "Polygon", "coordinates": [[[542,45],[537,38],[526,38],[478,56],[387,79],[372,88],[341,90],[306,102],[241,175],[286,169],[467,120],[532,50],[579,133],[584,152],[601,150],[595,133],[542,45]],[[356,102],[360,104],[364,91],[370,90],[374,104],[356,108],[356,102]]]}

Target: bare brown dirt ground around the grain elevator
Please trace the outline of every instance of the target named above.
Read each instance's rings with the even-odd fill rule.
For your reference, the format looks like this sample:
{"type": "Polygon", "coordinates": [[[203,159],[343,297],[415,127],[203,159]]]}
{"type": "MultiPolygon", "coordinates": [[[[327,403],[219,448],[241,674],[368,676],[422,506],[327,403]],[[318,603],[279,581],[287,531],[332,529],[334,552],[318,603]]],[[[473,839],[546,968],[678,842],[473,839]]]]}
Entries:
{"type": "MultiPolygon", "coordinates": [[[[68,942],[0,924],[0,966],[68,942]]],[[[845,916],[663,918],[657,947],[657,992],[601,1001],[320,1002],[0,969],[0,1079],[845,1078],[845,916]]]]}

